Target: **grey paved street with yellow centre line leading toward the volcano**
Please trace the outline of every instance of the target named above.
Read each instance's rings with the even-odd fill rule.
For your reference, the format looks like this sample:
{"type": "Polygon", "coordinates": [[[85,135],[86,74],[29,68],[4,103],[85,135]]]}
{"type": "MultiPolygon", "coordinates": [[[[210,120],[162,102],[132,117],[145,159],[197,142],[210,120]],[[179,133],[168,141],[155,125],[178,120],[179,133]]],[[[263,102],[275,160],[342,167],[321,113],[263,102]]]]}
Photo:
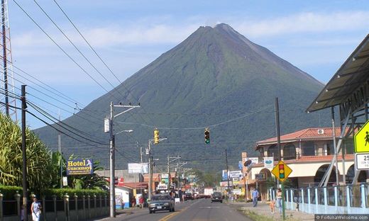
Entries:
{"type": "MultiPolygon", "coordinates": [[[[209,199],[189,200],[175,206],[175,212],[155,212],[149,214],[148,209],[136,209],[131,213],[119,215],[114,220],[129,221],[251,221],[244,215],[241,215],[234,208],[230,208],[225,203],[211,203],[209,199]]],[[[110,219],[104,219],[110,221],[110,219]]]]}

